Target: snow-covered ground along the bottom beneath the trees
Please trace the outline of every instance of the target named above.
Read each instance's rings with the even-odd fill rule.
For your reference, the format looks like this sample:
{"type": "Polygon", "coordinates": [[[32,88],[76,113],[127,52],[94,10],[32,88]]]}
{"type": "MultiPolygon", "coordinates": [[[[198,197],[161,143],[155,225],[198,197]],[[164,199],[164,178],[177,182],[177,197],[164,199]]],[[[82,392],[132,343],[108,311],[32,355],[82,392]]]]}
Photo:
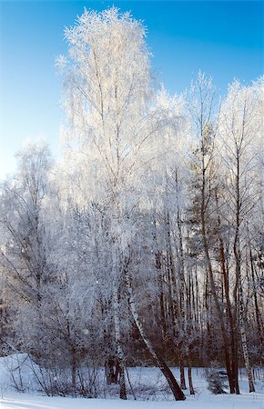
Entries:
{"type": "MultiPolygon", "coordinates": [[[[27,360],[26,355],[0,358],[0,407],[13,409],[264,409],[264,379],[263,373],[259,373],[256,380],[256,393],[249,394],[246,374],[240,374],[239,384],[240,395],[211,394],[207,389],[207,382],[204,378],[203,369],[193,370],[193,381],[196,394],[190,396],[187,393],[187,400],[175,402],[168,394],[166,382],[157,368],[130,368],[129,378],[136,395],[140,396],[140,391],[144,391],[145,399],[141,401],[130,398],[121,401],[113,394],[108,399],[83,399],[71,397],[48,397],[37,392],[34,371],[37,365],[27,360]],[[19,365],[18,365],[19,363],[19,365]],[[21,394],[14,390],[11,379],[11,371],[15,374],[15,382],[23,379],[25,393],[21,394]],[[29,392],[33,389],[34,392],[29,392]],[[157,393],[157,391],[159,391],[157,393]]],[[[178,376],[178,368],[173,369],[178,376]]],[[[143,394],[142,394],[143,396],[143,394]]]]}

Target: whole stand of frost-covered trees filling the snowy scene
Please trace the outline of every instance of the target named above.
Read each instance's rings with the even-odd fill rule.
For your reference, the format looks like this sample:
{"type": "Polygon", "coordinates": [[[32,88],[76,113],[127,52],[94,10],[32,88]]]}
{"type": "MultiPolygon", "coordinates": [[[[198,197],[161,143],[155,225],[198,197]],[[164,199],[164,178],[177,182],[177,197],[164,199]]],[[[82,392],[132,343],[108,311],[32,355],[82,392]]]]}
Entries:
{"type": "Polygon", "coordinates": [[[146,27],[115,7],[65,37],[60,155],[25,145],[0,186],[1,355],[28,354],[48,395],[102,396],[103,369],[126,400],[127,367],[153,365],[175,400],[196,393],[195,367],[221,368],[230,394],[246,368],[254,392],[263,77],[220,96],[199,72],[170,95],[146,27]]]}

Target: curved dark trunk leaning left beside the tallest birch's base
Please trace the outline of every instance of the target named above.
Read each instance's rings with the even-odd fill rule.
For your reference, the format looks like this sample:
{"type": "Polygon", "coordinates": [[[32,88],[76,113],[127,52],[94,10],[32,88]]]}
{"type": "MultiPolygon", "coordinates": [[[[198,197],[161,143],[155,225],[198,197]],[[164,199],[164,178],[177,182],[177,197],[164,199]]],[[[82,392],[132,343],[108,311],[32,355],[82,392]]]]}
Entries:
{"type": "Polygon", "coordinates": [[[142,340],[146,344],[149,354],[151,354],[153,360],[155,361],[155,363],[159,367],[160,371],[166,377],[166,379],[168,381],[168,384],[169,384],[169,387],[171,389],[171,392],[173,393],[173,395],[175,397],[175,400],[176,401],[184,401],[186,399],[186,396],[182,392],[182,390],[180,389],[174,375],[172,374],[172,372],[170,371],[170,369],[168,367],[168,364],[166,364],[164,359],[159,354],[157,354],[157,352],[153,348],[153,345],[152,345],[151,341],[149,340],[149,338],[145,334],[143,325],[141,324],[139,315],[137,314],[137,307],[136,307],[136,304],[135,304],[134,295],[133,295],[133,292],[132,292],[131,279],[130,279],[127,267],[125,268],[125,276],[126,276],[129,308],[130,308],[131,314],[133,316],[133,319],[135,321],[135,324],[137,325],[138,332],[141,335],[142,340]]]}

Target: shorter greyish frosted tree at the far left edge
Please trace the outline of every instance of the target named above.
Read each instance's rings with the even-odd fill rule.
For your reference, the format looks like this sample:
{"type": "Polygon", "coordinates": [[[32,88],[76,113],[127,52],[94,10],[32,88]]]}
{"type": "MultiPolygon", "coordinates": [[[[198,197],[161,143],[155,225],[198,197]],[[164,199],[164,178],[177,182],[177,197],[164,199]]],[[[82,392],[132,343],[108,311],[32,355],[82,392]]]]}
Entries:
{"type": "Polygon", "coordinates": [[[45,220],[51,158],[40,144],[25,146],[17,159],[17,174],[1,186],[1,271],[16,300],[15,342],[40,355],[46,283],[52,274],[45,220]]]}

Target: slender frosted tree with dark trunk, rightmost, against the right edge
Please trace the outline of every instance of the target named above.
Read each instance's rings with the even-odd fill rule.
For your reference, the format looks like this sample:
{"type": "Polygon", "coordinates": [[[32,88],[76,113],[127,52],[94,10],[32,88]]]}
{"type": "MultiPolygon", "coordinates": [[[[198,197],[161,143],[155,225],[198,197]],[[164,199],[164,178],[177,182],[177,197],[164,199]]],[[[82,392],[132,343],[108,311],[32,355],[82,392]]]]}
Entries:
{"type": "Polygon", "coordinates": [[[249,392],[254,391],[253,376],[249,365],[249,349],[246,335],[246,314],[243,289],[245,258],[243,247],[247,225],[259,203],[261,168],[261,122],[259,118],[258,87],[243,86],[235,81],[229,86],[226,100],[219,112],[219,137],[222,142],[221,159],[226,177],[228,216],[232,224],[233,254],[235,258],[235,304],[239,314],[239,332],[246,368],[249,374],[249,392]],[[243,260],[244,259],[244,260],[243,260]]]}

